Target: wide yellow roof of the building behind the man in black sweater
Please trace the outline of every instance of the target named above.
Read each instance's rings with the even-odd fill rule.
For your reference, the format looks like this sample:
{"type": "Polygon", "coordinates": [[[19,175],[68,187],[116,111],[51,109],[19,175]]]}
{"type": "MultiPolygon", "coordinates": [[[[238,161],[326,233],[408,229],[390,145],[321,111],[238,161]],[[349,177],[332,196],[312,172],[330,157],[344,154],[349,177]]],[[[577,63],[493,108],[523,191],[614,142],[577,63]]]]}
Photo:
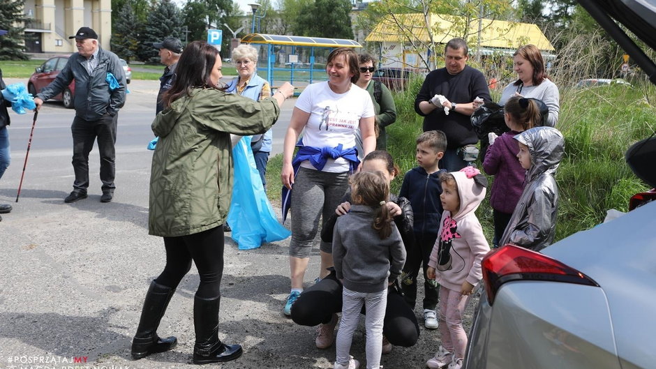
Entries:
{"type": "MultiPolygon", "coordinates": [[[[463,29],[465,22],[465,18],[454,15],[429,13],[424,17],[422,13],[389,14],[376,24],[365,41],[405,43],[408,38],[412,38],[428,43],[430,38],[427,25],[430,24],[435,43],[447,43],[454,37],[462,36],[453,30],[463,29]]],[[[489,19],[483,19],[481,23],[481,47],[517,49],[522,45],[533,44],[539,50],[555,50],[536,24],[489,19]]],[[[477,37],[478,27],[479,20],[470,22],[472,35],[468,37],[469,40],[477,37]]]]}

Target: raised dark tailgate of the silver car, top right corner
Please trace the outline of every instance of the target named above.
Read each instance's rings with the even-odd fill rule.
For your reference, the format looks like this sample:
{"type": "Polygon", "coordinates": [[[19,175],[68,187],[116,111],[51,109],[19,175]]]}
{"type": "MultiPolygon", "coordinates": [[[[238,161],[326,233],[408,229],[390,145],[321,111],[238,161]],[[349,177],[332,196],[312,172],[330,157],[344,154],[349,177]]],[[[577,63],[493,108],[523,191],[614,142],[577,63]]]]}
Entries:
{"type": "Polygon", "coordinates": [[[613,22],[620,22],[648,47],[656,50],[656,0],[579,0],[579,3],[656,84],[654,61],[613,22]]]}

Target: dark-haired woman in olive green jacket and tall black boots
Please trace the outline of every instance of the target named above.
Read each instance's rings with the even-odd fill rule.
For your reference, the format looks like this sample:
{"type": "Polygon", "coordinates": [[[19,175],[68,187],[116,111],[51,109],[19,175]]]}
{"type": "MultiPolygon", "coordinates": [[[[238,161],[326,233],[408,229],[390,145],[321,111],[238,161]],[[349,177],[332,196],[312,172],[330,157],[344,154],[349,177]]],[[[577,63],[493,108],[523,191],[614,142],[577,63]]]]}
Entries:
{"type": "Polygon", "coordinates": [[[215,47],[195,41],[182,52],[176,80],[163,100],[165,110],[152,124],[159,142],[150,181],[149,233],[164,237],[166,265],[144,301],[132,356],[141,359],[177,344],[160,338],[157,327],[177,285],[193,260],[200,276],[193,317],[193,362],[230,361],[241,346],[218,339],[223,276],[223,223],[232,195],[230,133],[266,132],[294,88],[285,83],[260,102],[218,88],[221,57],[215,47]]]}

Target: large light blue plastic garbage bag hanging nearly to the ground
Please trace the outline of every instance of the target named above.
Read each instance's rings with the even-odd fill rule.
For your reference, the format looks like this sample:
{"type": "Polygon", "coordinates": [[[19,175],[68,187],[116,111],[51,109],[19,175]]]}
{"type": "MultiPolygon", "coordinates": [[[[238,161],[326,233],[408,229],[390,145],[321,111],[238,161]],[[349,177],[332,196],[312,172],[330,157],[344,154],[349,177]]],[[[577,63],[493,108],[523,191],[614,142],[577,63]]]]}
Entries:
{"type": "Polygon", "coordinates": [[[232,159],[234,184],[228,224],[232,228],[232,239],[237,242],[239,249],[258,248],[262,242],[288,238],[291,232],[278,223],[262,186],[251,150],[251,137],[241,137],[232,149],[232,159]]]}

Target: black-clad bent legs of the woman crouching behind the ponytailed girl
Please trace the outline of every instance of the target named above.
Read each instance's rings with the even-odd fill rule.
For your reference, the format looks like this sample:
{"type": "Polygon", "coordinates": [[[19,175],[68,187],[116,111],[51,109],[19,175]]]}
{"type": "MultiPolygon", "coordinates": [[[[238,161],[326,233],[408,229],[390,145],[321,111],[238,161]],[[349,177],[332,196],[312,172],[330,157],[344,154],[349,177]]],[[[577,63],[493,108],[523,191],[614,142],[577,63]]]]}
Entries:
{"type": "MultiPolygon", "coordinates": [[[[302,326],[330,322],[332,315],[342,310],[342,285],[331,273],[319,283],[304,290],[292,305],[292,320],[302,326]]],[[[382,333],[392,345],[410,347],[419,339],[419,325],[415,312],[403,296],[389,289],[382,333]]]]}

